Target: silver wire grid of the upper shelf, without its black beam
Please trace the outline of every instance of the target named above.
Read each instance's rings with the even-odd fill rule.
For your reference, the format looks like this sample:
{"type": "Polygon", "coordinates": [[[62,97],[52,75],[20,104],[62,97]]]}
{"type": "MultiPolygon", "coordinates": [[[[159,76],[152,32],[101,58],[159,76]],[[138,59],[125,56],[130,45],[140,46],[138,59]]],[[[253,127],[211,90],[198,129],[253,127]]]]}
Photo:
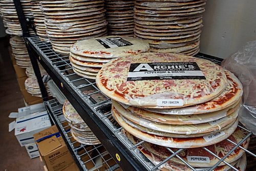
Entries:
{"type": "MultiPolygon", "coordinates": [[[[30,37],[28,38],[31,44],[41,53],[41,55],[48,60],[49,63],[53,66],[53,68],[59,72],[59,75],[67,80],[69,85],[72,87],[74,92],[76,92],[81,99],[83,99],[83,102],[86,103],[98,116],[98,118],[103,121],[103,123],[108,126],[109,130],[119,139],[121,143],[123,143],[127,149],[131,151],[131,153],[136,157],[138,161],[140,161],[147,170],[157,170],[162,164],[164,164],[167,159],[170,159],[174,156],[179,158],[185,165],[187,165],[191,170],[197,170],[196,168],[192,167],[190,164],[188,164],[185,160],[183,160],[179,155],[178,151],[174,152],[172,149],[167,148],[167,150],[172,153],[173,155],[169,156],[166,160],[160,162],[158,165],[154,165],[152,162],[150,162],[137,148],[143,141],[141,141],[138,144],[133,144],[130,140],[127,139],[127,137],[121,132],[122,127],[120,127],[118,124],[113,123],[113,117],[111,115],[111,99],[103,95],[99,89],[96,86],[95,80],[92,79],[87,79],[80,77],[76,75],[73,72],[72,66],[69,62],[69,56],[62,56],[57,53],[55,53],[52,50],[52,46],[49,42],[44,42],[40,41],[38,37],[30,37]],[[90,90],[90,91],[89,91],[90,90]],[[88,92],[89,91],[89,92],[88,92]],[[94,99],[93,95],[101,95],[104,97],[104,100],[97,101],[94,99]]],[[[210,57],[208,55],[203,55],[201,53],[197,54],[195,57],[198,58],[204,58],[208,59],[212,62],[217,63],[218,65],[221,64],[221,61],[223,59],[217,58],[217,57],[210,57]]],[[[244,127],[240,126],[242,129],[244,127]]],[[[246,129],[244,129],[246,130],[246,129]]],[[[248,138],[252,133],[248,130],[246,138],[248,138]]],[[[252,155],[253,157],[256,157],[255,154],[252,152],[248,151],[247,149],[243,148],[240,146],[245,140],[244,138],[242,141],[235,143],[232,142],[231,140],[227,139],[227,141],[231,142],[232,144],[235,145],[230,152],[224,156],[223,158],[220,158],[216,154],[212,153],[209,151],[207,148],[203,147],[205,151],[211,155],[214,155],[217,159],[219,159],[219,162],[216,163],[213,167],[208,168],[207,170],[211,171],[214,170],[220,163],[224,162],[227,164],[229,167],[231,167],[233,170],[238,171],[237,168],[233,167],[229,163],[225,162],[224,160],[226,157],[228,157],[229,154],[231,154],[236,148],[241,148],[243,149],[247,154],[252,155]]],[[[179,149],[179,152],[183,151],[183,149],[179,149]]]]}

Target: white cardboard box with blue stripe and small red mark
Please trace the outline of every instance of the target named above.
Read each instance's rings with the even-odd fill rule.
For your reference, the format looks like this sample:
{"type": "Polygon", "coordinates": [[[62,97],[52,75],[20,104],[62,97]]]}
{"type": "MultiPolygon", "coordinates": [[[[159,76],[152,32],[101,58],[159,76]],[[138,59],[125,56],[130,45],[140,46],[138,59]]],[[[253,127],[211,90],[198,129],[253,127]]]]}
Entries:
{"type": "Polygon", "coordinates": [[[14,134],[24,146],[34,142],[33,135],[51,126],[47,111],[19,117],[16,119],[14,134]]]}

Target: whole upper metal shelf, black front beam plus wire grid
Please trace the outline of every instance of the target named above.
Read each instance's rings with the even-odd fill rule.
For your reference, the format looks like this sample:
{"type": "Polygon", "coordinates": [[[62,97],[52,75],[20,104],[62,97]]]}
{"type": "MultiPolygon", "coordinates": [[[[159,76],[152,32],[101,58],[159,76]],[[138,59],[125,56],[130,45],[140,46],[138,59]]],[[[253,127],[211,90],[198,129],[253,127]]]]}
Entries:
{"type": "MultiPolygon", "coordinates": [[[[111,154],[121,168],[124,170],[157,170],[158,166],[163,164],[159,163],[159,165],[155,166],[153,163],[151,163],[142,153],[140,153],[139,149],[137,148],[140,143],[136,145],[132,144],[132,142],[130,142],[121,132],[122,127],[116,126],[115,123],[110,121],[110,118],[112,117],[110,112],[111,99],[106,97],[106,100],[104,101],[95,102],[91,98],[91,95],[101,93],[96,86],[95,80],[86,79],[73,73],[72,66],[69,62],[69,56],[62,56],[55,53],[52,50],[52,46],[49,42],[41,41],[37,36],[28,37],[27,42],[31,46],[31,49],[33,49],[39,55],[38,60],[40,61],[41,65],[49,73],[63,94],[65,94],[82,119],[89,125],[91,130],[101,141],[102,145],[111,154]],[[83,94],[84,90],[93,90],[94,92],[90,94],[83,94]]],[[[196,57],[211,60],[219,65],[222,61],[221,58],[212,57],[201,53],[196,55],[196,57]]],[[[248,131],[246,138],[251,134],[252,133],[248,131]]],[[[245,141],[245,139],[237,144],[230,140],[228,141],[236,145],[228,153],[230,154],[234,151],[234,149],[239,147],[240,144],[245,141]]],[[[177,154],[183,150],[180,149],[174,153],[170,148],[167,149],[173,153],[173,155],[169,158],[174,156],[179,158],[177,154]]],[[[207,148],[204,149],[208,153],[212,154],[207,148]]],[[[256,157],[253,153],[247,151],[246,149],[244,150],[246,153],[256,157]]],[[[213,170],[226,157],[227,156],[224,156],[222,159],[220,159],[220,161],[214,167],[210,168],[210,170],[213,170]]],[[[192,170],[196,170],[184,160],[183,162],[192,170]]],[[[232,167],[231,165],[229,166],[232,167]]],[[[237,170],[236,168],[233,169],[237,170]]]]}

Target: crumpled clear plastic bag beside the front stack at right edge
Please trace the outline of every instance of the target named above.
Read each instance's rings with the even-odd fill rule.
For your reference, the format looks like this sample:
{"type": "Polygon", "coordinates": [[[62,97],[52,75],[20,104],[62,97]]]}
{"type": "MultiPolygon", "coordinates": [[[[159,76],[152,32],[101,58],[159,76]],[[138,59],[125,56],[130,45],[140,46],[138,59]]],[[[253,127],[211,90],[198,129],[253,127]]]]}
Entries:
{"type": "Polygon", "coordinates": [[[247,44],[222,62],[242,82],[244,94],[239,121],[256,134],[256,41],[247,44]]]}

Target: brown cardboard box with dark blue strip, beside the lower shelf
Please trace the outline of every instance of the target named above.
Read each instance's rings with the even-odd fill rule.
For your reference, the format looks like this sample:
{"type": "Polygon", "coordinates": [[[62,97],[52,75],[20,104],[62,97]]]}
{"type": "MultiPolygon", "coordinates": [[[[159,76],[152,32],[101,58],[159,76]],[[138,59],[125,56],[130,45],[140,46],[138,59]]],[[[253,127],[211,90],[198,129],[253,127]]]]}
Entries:
{"type": "Polygon", "coordinates": [[[74,163],[56,125],[34,134],[39,153],[49,171],[62,171],[74,163]]]}

